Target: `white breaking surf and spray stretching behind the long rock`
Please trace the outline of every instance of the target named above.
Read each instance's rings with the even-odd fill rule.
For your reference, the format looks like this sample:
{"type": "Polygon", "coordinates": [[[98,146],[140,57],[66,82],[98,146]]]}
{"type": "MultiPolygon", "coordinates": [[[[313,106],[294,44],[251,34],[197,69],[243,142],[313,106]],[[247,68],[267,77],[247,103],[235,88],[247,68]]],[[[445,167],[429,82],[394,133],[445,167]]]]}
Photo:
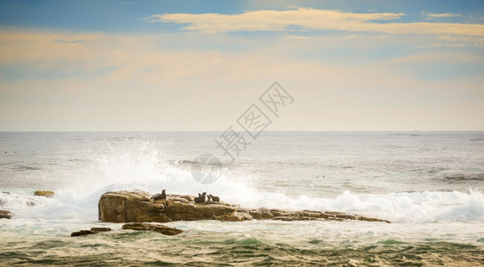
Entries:
{"type": "MultiPolygon", "coordinates": [[[[144,162],[144,164],[147,164],[144,162]]],[[[290,198],[283,193],[258,191],[250,186],[250,175],[229,171],[210,185],[195,182],[188,170],[163,164],[160,169],[129,168],[118,162],[107,169],[103,179],[81,179],[60,190],[54,198],[22,194],[0,194],[4,209],[15,218],[88,220],[97,218],[97,202],[111,190],[144,190],[152,194],[195,194],[207,191],[226,202],[247,207],[293,210],[332,210],[379,217],[393,223],[432,223],[435,221],[484,222],[484,196],[480,191],[423,191],[391,194],[353,194],[344,191],[336,198],[290,198]]]]}

